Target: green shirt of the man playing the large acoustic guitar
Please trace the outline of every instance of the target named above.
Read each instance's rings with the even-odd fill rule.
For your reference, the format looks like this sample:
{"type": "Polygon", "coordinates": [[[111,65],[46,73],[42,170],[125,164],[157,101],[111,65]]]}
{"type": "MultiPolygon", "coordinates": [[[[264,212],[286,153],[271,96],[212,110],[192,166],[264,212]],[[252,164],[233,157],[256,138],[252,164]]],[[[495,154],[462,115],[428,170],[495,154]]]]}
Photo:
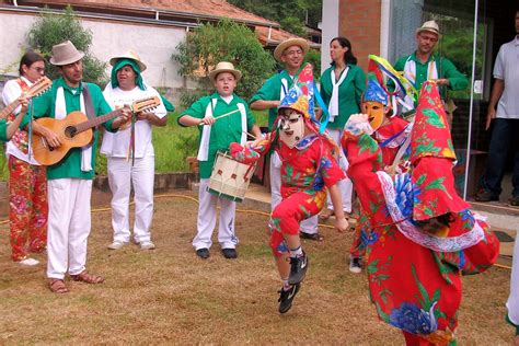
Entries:
{"type": "MultiPolygon", "coordinates": [[[[104,100],[101,89],[92,83],[86,83],[89,86],[90,95],[92,96],[92,104],[95,111],[96,116],[104,115],[112,112],[111,106],[104,100]]],[[[55,117],[56,112],[56,93],[58,88],[64,88],[65,94],[65,106],[67,108],[67,114],[70,114],[74,111],[81,111],[80,105],[80,94],[83,91],[83,85],[80,84],[79,88],[70,88],[67,85],[62,78],[59,78],[53,81],[53,88],[44,93],[43,95],[35,97],[33,100],[33,116],[34,118],[41,117],[55,117]]],[[[28,114],[31,111],[27,111],[27,116],[22,120],[22,127],[28,123],[28,114]]],[[[112,123],[114,119],[108,120],[103,124],[103,127],[111,131],[116,132],[117,130],[112,129],[112,123]]],[[[92,143],[92,168],[95,166],[95,150],[97,148],[97,138],[99,131],[94,130],[94,140],[92,143]]],[[[64,177],[76,177],[82,180],[92,180],[94,177],[94,170],[92,169],[89,172],[81,171],[81,148],[73,148],[67,153],[67,155],[58,163],[47,166],[47,180],[56,180],[64,177]]]]}

